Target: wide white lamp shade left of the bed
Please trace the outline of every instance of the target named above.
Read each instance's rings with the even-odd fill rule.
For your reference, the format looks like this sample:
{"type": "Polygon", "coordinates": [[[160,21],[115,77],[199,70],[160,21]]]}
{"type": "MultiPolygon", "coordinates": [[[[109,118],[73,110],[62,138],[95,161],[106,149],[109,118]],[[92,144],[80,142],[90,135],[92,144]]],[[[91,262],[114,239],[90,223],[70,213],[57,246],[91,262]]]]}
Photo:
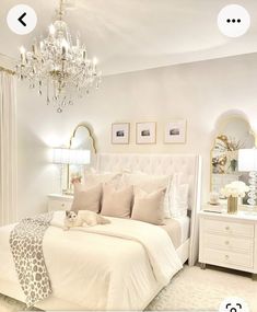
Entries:
{"type": "Polygon", "coordinates": [[[89,164],[90,150],[52,149],[52,163],[89,164]]]}

